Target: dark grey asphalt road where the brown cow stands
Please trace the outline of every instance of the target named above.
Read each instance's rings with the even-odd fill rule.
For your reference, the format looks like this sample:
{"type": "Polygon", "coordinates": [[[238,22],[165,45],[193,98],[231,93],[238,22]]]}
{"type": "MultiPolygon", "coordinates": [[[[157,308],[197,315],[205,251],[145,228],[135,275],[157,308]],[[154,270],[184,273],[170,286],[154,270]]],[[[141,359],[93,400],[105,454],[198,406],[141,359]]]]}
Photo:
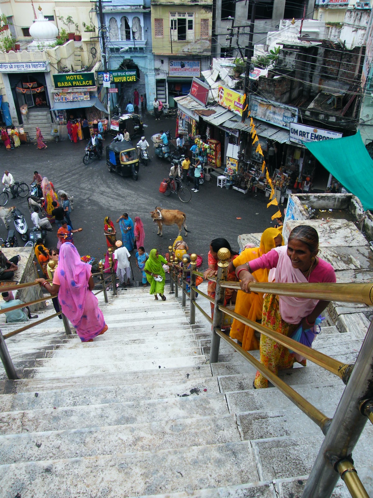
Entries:
{"type": "MultiPolygon", "coordinates": [[[[203,257],[203,267],[207,266],[207,252],[212,239],[224,237],[233,249],[238,249],[238,235],[262,232],[273,226],[273,210],[267,210],[268,199],[261,192],[244,195],[232,189],[221,189],[216,186],[214,177],[209,182],[205,181],[198,193],[191,192],[192,197],[187,204],[182,203],[176,195],[166,197],[161,194],[159,185],[168,176],[170,165],[154,157],[150,137],[161,128],[170,129],[174,135],[176,119],[155,122],[153,116],[146,114],[144,124],[145,136],[151,145],[149,151],[152,162],[147,167],[140,165],[138,181],[109,173],[104,156],[100,161],[94,160],[85,166],[82,161],[87,143],[85,140],[76,144],[48,141],[48,148],[43,150],[36,148],[34,140],[31,144],[21,145],[11,151],[1,147],[2,170],[8,169],[15,180],[30,184],[36,169],[53,182],[56,191],[63,189],[74,195],[71,221],[74,228],[83,228],[83,232],[74,235],[75,245],[81,255],[103,257],[106,251],[103,220],[105,216],[110,216],[115,224],[115,220],[124,212],[132,220],[135,216],[140,216],[145,229],[146,251],[157,248],[164,254],[177,237],[178,228],[176,225],[164,227],[163,237],[158,237],[157,224],[150,217],[150,211],[156,206],[179,209],[186,213],[189,252],[196,252],[203,257]]],[[[109,140],[110,138],[105,140],[104,147],[109,140]]],[[[136,139],[133,140],[134,144],[136,142],[136,139]]],[[[27,225],[32,227],[26,200],[9,199],[8,206],[13,201],[25,214],[27,225]]],[[[120,234],[119,225],[117,230],[120,234]]],[[[0,237],[5,239],[6,234],[5,226],[0,221],[0,237]]],[[[184,231],[182,234],[184,236],[184,231]]],[[[18,242],[22,242],[20,236],[18,242]]],[[[56,233],[48,233],[46,245],[52,247],[56,243],[56,233]]]]}

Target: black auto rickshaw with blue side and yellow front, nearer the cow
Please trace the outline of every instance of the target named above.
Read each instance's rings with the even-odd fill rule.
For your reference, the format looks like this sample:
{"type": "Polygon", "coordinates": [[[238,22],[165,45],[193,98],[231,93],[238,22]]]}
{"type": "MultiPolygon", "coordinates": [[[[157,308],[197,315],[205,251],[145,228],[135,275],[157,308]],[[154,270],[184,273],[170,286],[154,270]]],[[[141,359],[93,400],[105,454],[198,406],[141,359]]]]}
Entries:
{"type": "Polygon", "coordinates": [[[114,142],[106,146],[106,166],[121,176],[132,176],[138,179],[140,162],[136,148],[129,142],[114,142]]]}

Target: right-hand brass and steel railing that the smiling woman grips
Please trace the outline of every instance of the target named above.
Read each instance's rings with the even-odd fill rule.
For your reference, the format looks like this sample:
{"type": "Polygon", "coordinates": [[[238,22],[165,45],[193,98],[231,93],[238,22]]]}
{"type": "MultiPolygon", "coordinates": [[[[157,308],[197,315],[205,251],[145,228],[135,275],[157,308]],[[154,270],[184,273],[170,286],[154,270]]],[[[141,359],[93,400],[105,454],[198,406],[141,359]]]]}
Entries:
{"type": "MultiPolygon", "coordinates": [[[[190,270],[187,270],[187,265],[189,264],[187,258],[184,258],[180,262],[180,265],[177,258],[173,259],[172,246],[169,247],[169,258],[174,263],[170,271],[171,291],[175,288],[175,297],[178,297],[178,289],[182,289],[183,306],[186,306],[187,272],[190,272],[190,282],[188,284],[190,285],[190,294],[188,296],[190,325],[195,324],[195,308],[212,324],[209,363],[216,363],[218,361],[220,339],[222,339],[279,388],[290,401],[320,427],[325,435],[316,461],[307,479],[302,498],[329,498],[333,493],[339,476],[346,483],[352,497],[369,498],[354,468],[352,451],[367,420],[369,419],[373,423],[373,321],[370,324],[355,364],[347,365],[257,322],[248,320],[246,317],[225,307],[223,305],[225,289],[240,289],[239,282],[226,280],[230,259],[228,249],[219,250],[217,276],[208,278],[216,282],[215,299],[198,290],[195,285],[196,276],[203,276],[202,273],[196,271],[196,254],[191,254],[190,256],[190,270]],[[196,303],[196,292],[201,297],[214,303],[213,319],[196,303]],[[333,418],[330,419],[324,415],[275,373],[230,339],[221,329],[224,313],[266,335],[282,346],[291,349],[294,353],[300,354],[325,370],[339,376],[346,384],[346,387],[333,418]]],[[[250,290],[327,301],[365,303],[373,306],[373,283],[281,284],[252,282],[250,283],[250,290]]]]}

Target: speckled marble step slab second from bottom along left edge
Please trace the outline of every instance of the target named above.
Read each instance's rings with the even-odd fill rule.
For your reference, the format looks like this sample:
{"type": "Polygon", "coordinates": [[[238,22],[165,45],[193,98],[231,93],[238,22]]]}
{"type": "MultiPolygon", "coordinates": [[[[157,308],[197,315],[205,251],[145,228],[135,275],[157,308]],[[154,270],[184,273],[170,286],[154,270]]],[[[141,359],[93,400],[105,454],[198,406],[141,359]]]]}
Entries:
{"type": "Polygon", "coordinates": [[[0,436],[0,465],[239,442],[233,415],[0,436]]]}

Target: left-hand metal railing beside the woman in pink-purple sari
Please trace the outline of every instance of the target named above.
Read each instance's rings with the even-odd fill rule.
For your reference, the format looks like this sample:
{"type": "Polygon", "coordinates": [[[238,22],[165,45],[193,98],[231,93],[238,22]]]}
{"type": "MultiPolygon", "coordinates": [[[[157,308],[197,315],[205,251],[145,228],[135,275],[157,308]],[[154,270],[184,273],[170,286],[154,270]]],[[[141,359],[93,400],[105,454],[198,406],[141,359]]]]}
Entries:
{"type": "MultiPolygon", "coordinates": [[[[96,282],[94,285],[95,286],[96,285],[102,286],[102,288],[98,292],[96,292],[94,295],[97,295],[100,292],[103,292],[105,303],[109,302],[108,298],[107,298],[107,287],[106,287],[107,286],[106,282],[108,280],[111,280],[113,295],[114,296],[116,295],[116,281],[115,281],[115,272],[113,269],[112,249],[111,250],[110,249],[108,249],[109,250],[109,273],[110,274],[107,275],[106,277],[104,276],[104,269],[103,269],[103,265],[102,265],[101,261],[98,263],[99,271],[92,274],[92,276],[99,276],[99,278],[100,278],[99,281],[96,282]]],[[[47,280],[47,282],[52,282],[52,280],[49,279],[49,280],[47,280]]],[[[3,290],[4,291],[5,290],[6,291],[19,290],[19,289],[24,289],[27,287],[34,287],[34,286],[39,286],[39,285],[40,285],[39,282],[34,281],[34,282],[27,282],[27,283],[21,283],[21,284],[7,285],[6,287],[3,287],[3,290]]],[[[8,311],[13,311],[13,310],[16,310],[19,308],[25,308],[26,306],[32,306],[34,304],[42,303],[44,301],[51,299],[51,297],[53,297],[53,296],[46,295],[46,296],[43,296],[39,299],[35,299],[34,301],[28,301],[26,303],[11,306],[10,308],[0,310],[0,314],[7,313],[8,311]]],[[[55,297],[57,297],[57,296],[55,296],[55,297]]],[[[4,370],[5,370],[5,373],[8,377],[8,379],[15,380],[15,379],[18,379],[19,377],[18,377],[18,374],[14,368],[13,362],[10,358],[8,349],[7,349],[6,344],[5,344],[5,339],[9,339],[10,337],[13,337],[21,332],[24,332],[25,330],[31,329],[31,328],[33,328],[37,325],[40,325],[44,322],[47,322],[48,320],[51,320],[52,318],[55,318],[56,316],[59,316],[59,315],[62,316],[62,321],[64,324],[66,335],[68,335],[68,336],[71,335],[72,332],[71,332],[69,320],[62,313],[62,311],[59,311],[58,313],[54,313],[52,315],[49,315],[45,318],[42,318],[41,320],[37,320],[37,321],[33,320],[31,323],[28,323],[27,325],[24,325],[23,327],[20,327],[16,330],[12,330],[11,332],[8,332],[7,334],[4,334],[4,335],[1,333],[1,330],[0,330],[0,359],[1,359],[2,365],[4,367],[4,370]]]]}

